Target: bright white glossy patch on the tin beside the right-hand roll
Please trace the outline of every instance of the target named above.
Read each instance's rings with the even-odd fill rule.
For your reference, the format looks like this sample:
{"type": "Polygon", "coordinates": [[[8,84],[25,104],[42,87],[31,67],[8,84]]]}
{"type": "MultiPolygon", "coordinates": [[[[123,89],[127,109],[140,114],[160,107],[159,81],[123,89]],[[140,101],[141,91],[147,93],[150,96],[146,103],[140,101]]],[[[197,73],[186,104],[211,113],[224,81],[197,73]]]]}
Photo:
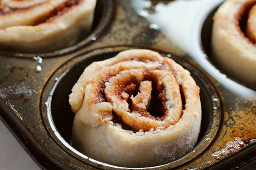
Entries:
{"type": "Polygon", "coordinates": [[[151,25],[154,25],[154,28],[157,26],[157,29],[162,31],[171,42],[195,59],[221,85],[236,95],[255,97],[254,90],[244,87],[220,73],[209,62],[199,46],[200,28],[204,17],[221,2],[223,0],[175,0],[169,3],[155,4],[149,0],[132,0],[133,8],[138,15],[146,18],[151,25]]]}

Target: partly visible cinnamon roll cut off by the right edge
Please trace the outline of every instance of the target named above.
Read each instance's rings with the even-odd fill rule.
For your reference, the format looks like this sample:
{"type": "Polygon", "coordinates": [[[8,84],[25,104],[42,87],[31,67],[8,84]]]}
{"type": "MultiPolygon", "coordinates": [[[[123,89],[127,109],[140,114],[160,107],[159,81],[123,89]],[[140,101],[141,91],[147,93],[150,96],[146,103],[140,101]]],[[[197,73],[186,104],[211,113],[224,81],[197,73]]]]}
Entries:
{"type": "Polygon", "coordinates": [[[256,88],[256,1],[227,0],[215,13],[212,59],[227,75],[256,88]]]}

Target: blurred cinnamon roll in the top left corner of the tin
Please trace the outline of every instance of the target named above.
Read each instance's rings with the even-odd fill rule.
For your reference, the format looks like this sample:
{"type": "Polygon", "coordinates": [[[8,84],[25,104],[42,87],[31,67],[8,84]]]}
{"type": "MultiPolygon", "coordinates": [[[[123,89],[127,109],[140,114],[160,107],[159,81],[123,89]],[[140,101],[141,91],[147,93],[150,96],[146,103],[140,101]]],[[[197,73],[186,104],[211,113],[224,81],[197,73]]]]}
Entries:
{"type": "Polygon", "coordinates": [[[44,52],[77,43],[90,31],[96,0],[2,0],[0,46],[44,52]]]}

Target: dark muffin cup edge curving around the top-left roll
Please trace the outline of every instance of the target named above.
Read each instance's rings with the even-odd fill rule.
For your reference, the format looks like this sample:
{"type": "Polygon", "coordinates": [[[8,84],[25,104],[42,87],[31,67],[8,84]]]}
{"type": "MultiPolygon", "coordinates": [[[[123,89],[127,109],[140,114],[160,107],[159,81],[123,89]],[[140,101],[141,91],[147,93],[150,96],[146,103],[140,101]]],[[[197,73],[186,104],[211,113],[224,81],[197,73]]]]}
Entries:
{"type": "Polygon", "coordinates": [[[57,57],[66,53],[72,53],[81,48],[85,48],[91,43],[95,42],[110,25],[113,15],[115,14],[115,2],[113,0],[97,0],[94,11],[94,19],[92,28],[89,32],[80,34],[78,42],[61,49],[55,49],[52,51],[38,51],[38,52],[26,52],[15,51],[8,49],[1,49],[0,54],[9,57],[57,57]]]}

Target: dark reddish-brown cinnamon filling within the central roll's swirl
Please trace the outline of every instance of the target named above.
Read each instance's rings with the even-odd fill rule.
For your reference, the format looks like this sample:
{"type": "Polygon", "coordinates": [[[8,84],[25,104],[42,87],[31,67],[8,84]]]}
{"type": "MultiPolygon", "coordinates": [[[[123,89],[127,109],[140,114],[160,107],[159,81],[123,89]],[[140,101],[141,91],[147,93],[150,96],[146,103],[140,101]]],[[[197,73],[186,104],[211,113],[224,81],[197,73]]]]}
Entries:
{"type": "MultiPolygon", "coordinates": [[[[104,75],[102,76],[102,79],[97,83],[95,88],[96,95],[93,96],[95,98],[93,100],[94,104],[97,104],[100,102],[112,103],[112,100],[107,97],[107,94],[105,94],[105,83],[108,82],[108,79],[112,76],[113,75],[108,75],[108,76],[104,75]]],[[[182,108],[184,110],[185,97],[181,87],[180,87],[180,90],[181,90],[180,94],[181,94],[182,108]]],[[[147,68],[143,69],[143,79],[141,81],[138,81],[135,76],[130,76],[128,79],[120,79],[118,82],[118,86],[116,86],[115,88],[114,93],[119,100],[125,100],[128,103],[130,113],[131,112],[138,113],[143,117],[148,117],[155,121],[164,121],[166,116],[168,116],[168,108],[166,108],[166,105],[165,105],[165,103],[168,101],[168,99],[166,98],[166,88],[163,84],[160,84],[157,81],[157,77],[151,73],[151,70],[147,68]],[[132,97],[136,97],[139,93],[142,93],[140,91],[140,85],[145,81],[150,82],[152,86],[151,99],[146,109],[137,107],[132,101],[132,97]]],[[[114,123],[120,124],[123,129],[133,130],[134,132],[138,131],[137,128],[134,128],[132,125],[129,125],[126,122],[124,122],[122,117],[120,117],[114,110],[112,111],[112,117],[113,117],[112,121],[114,123]]],[[[169,125],[171,124],[166,125],[166,127],[168,127],[169,125]]],[[[150,130],[151,125],[146,125],[146,126],[149,126],[149,127],[147,130],[144,130],[144,131],[150,130]]]]}

